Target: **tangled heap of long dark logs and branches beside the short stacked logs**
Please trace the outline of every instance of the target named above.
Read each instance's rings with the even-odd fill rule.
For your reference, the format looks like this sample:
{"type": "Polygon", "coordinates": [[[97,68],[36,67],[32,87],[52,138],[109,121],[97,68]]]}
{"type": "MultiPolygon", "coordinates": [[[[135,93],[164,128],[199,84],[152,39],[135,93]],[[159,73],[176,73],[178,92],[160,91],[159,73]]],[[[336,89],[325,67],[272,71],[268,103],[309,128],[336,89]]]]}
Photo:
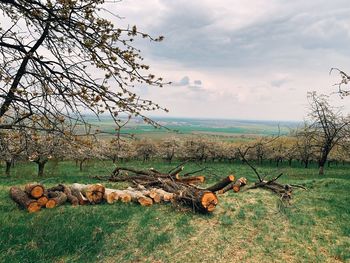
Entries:
{"type": "MultiPolygon", "coordinates": [[[[128,167],[117,167],[110,177],[95,178],[111,182],[129,182],[133,187],[128,189],[141,191],[145,195],[146,193],[153,193],[153,202],[172,201],[173,203],[186,205],[194,211],[204,213],[214,211],[218,204],[217,192],[228,186],[233,189],[233,184],[236,182],[235,176],[229,175],[210,187],[202,188],[198,184],[203,183],[205,177],[191,176],[198,171],[181,175],[183,169],[183,166],[179,166],[163,173],[154,168],[137,170],[128,167]],[[158,198],[157,195],[160,197],[158,198]]],[[[230,189],[225,189],[225,192],[230,189]]],[[[135,198],[138,199],[137,196],[132,197],[132,199],[135,198]]],[[[150,204],[146,202],[145,205],[150,204]]]]}

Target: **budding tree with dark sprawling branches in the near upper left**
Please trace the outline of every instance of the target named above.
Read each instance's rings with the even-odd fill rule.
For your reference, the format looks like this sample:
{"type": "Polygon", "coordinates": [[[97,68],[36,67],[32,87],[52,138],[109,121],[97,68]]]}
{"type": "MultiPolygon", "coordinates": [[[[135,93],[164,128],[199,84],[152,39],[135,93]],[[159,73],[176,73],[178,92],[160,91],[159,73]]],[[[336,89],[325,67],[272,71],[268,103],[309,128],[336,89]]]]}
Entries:
{"type": "MultiPolygon", "coordinates": [[[[163,109],[131,91],[162,86],[135,38],[161,41],[105,19],[103,0],[0,0],[0,129],[46,118],[84,122],[81,110],[144,116],[163,109]],[[27,122],[22,122],[27,120],[27,122]]],[[[166,110],[166,109],[163,109],[166,110]]],[[[59,126],[54,126],[59,128],[59,126]]]]}

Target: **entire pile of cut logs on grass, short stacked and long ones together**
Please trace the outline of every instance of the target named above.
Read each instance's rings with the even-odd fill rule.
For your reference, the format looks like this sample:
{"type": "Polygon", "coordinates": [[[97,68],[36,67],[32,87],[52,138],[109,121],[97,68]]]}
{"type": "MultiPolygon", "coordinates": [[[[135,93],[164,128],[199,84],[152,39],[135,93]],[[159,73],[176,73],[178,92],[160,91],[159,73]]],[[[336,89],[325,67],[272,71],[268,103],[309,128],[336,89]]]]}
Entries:
{"type": "Polygon", "coordinates": [[[112,204],[118,200],[124,203],[137,202],[142,206],[160,202],[180,203],[191,207],[194,211],[212,212],[218,204],[216,193],[223,194],[229,190],[238,192],[247,183],[245,178],[235,180],[233,175],[229,175],[217,184],[199,188],[196,184],[204,182],[204,176],[180,178],[178,175],[180,170],[171,177],[156,173],[158,176],[138,174],[137,178],[132,176],[109,178],[110,181],[130,181],[133,178],[133,187],[124,190],[105,188],[102,184],[74,183],[70,186],[59,184],[45,188],[42,184],[31,183],[27,184],[24,190],[11,187],[10,196],[30,213],[37,212],[41,208],[54,208],[66,202],[76,206],[102,202],[112,204]]]}

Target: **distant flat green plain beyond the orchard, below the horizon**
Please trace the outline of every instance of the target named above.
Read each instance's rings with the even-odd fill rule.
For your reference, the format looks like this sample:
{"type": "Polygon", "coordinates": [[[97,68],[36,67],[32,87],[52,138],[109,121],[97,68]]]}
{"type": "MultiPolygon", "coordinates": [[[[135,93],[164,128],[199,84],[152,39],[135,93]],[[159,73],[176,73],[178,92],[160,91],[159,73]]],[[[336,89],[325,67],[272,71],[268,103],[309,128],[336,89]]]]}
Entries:
{"type": "MultiPolygon", "coordinates": [[[[136,137],[164,138],[168,136],[186,137],[189,135],[203,135],[222,137],[223,139],[244,139],[256,136],[287,134],[297,127],[297,122],[247,121],[222,119],[186,119],[186,118],[154,118],[166,128],[155,129],[144,124],[139,119],[131,120],[122,133],[133,134],[136,137]]],[[[100,121],[89,117],[88,121],[96,128],[112,136],[115,124],[112,119],[103,117],[100,121]]]]}

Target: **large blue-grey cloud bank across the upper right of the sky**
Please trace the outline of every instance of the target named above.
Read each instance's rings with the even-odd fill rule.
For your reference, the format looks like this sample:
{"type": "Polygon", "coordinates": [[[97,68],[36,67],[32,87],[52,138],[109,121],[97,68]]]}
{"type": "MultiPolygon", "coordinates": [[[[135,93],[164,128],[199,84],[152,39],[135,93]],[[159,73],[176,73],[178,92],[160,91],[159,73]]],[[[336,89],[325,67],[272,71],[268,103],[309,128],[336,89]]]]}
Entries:
{"type": "Polygon", "coordinates": [[[220,17],[203,8],[205,4],[170,1],[164,19],[153,28],[166,39],[151,52],[198,68],[297,66],[301,60],[313,63],[323,49],[349,54],[348,1],[293,2],[281,4],[274,16],[230,29],[215,28],[220,17]]]}

